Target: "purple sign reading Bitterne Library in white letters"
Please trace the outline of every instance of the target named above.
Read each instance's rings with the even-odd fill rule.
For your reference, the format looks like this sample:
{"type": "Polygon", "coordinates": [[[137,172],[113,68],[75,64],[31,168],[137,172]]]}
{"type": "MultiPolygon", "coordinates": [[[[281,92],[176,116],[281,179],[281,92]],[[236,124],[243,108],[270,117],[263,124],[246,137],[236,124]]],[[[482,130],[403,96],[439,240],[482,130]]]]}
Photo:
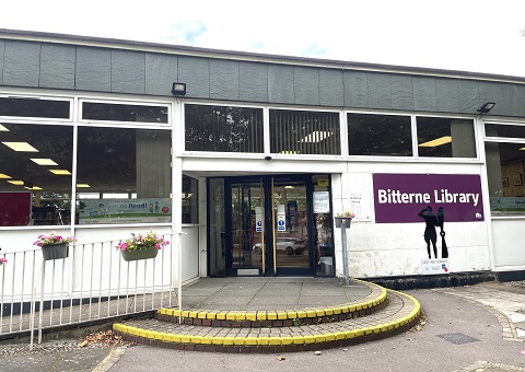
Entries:
{"type": "Polygon", "coordinates": [[[377,223],[421,222],[428,207],[447,222],[485,220],[479,175],[374,174],[373,182],[377,223]]]}

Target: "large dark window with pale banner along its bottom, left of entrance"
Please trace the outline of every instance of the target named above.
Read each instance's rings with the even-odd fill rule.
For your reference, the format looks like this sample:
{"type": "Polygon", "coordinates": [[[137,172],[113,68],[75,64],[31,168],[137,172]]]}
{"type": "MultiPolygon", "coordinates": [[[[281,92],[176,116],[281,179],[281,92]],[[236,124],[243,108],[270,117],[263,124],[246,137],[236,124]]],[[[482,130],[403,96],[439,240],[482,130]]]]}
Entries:
{"type": "Polygon", "coordinates": [[[80,224],[171,221],[171,131],[81,127],[78,137],[80,224]]]}

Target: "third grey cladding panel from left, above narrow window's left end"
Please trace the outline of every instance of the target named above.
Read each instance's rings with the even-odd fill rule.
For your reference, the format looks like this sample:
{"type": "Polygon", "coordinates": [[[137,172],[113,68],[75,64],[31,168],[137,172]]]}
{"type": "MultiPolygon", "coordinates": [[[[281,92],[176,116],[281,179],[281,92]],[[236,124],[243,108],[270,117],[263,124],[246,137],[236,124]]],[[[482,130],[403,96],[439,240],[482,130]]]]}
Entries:
{"type": "Polygon", "coordinates": [[[112,51],[77,47],[75,89],[109,92],[112,89],[112,51]]]}

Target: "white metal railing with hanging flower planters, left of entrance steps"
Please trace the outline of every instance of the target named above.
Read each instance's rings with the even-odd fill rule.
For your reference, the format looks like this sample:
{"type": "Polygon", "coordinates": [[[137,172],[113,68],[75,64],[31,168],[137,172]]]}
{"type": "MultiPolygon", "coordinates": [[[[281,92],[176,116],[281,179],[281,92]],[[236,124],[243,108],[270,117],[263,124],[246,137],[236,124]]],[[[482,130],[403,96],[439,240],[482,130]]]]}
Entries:
{"type": "MultiPolygon", "coordinates": [[[[177,304],[178,249],[125,261],[117,241],[70,244],[69,257],[44,260],[40,248],[0,252],[0,336],[112,318],[177,304]]],[[[179,237],[179,236],[176,236],[179,237]]],[[[178,241],[178,239],[177,239],[178,241]]]]}

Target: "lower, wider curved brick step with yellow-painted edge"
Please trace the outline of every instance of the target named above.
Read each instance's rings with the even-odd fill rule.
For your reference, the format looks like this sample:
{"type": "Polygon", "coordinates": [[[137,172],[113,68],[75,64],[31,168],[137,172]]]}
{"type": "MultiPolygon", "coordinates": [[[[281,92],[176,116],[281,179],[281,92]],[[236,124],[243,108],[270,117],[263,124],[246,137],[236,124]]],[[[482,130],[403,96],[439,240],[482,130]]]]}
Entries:
{"type": "Polygon", "coordinates": [[[188,351],[276,353],[337,348],[390,337],[416,324],[419,302],[401,292],[386,292],[384,309],[331,323],[249,328],[151,318],[114,324],[113,329],[126,340],[188,351]]]}

